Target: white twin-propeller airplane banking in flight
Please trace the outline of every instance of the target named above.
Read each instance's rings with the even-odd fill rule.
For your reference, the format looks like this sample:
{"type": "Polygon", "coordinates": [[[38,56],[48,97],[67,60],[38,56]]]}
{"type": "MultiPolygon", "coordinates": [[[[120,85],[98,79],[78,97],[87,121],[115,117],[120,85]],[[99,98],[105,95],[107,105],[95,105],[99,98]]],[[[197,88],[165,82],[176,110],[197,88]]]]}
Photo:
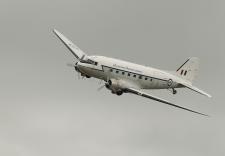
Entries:
{"type": "Polygon", "coordinates": [[[198,58],[189,58],[176,71],[164,71],[115,58],[89,56],[58,30],[53,29],[53,33],[78,60],[72,65],[78,74],[82,77],[94,77],[105,82],[99,90],[106,87],[118,96],[123,93],[131,93],[192,113],[208,116],[142,91],[143,89],[169,89],[173,94],[176,94],[176,88],[188,88],[210,98],[211,95],[192,85],[199,69],[198,58]]]}

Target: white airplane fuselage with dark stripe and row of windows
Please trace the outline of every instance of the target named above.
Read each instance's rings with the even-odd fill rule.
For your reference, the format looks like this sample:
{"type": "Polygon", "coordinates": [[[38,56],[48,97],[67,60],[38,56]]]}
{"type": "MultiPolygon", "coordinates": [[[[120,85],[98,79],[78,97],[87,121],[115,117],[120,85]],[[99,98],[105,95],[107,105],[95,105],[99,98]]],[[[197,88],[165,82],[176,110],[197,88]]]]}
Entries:
{"type": "Polygon", "coordinates": [[[179,78],[173,74],[135,63],[104,56],[89,56],[96,64],[78,62],[80,72],[107,81],[115,79],[126,86],[141,89],[168,89],[180,87],[179,78]],[[178,81],[177,81],[178,80],[178,81]]]}

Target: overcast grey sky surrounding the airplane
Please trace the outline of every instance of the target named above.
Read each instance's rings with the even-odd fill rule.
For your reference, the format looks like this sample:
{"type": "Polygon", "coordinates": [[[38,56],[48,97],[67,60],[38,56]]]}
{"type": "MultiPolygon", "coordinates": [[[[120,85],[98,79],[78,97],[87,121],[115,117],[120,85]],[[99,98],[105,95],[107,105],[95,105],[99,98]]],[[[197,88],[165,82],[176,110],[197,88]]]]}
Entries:
{"type": "Polygon", "coordinates": [[[223,0],[0,0],[0,155],[225,155],[223,0]],[[56,28],[90,55],[166,70],[201,59],[195,85],[173,96],[205,118],[134,95],[97,91],[56,28]]]}

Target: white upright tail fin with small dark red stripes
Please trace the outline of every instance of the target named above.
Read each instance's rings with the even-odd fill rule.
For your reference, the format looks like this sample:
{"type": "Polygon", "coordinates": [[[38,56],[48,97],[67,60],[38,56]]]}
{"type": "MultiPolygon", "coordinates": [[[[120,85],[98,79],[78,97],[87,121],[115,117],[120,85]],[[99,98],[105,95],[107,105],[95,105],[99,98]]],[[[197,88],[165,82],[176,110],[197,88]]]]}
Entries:
{"type": "Polygon", "coordinates": [[[196,78],[199,70],[199,59],[196,57],[189,58],[176,71],[176,74],[181,78],[190,81],[191,83],[196,78]]]}

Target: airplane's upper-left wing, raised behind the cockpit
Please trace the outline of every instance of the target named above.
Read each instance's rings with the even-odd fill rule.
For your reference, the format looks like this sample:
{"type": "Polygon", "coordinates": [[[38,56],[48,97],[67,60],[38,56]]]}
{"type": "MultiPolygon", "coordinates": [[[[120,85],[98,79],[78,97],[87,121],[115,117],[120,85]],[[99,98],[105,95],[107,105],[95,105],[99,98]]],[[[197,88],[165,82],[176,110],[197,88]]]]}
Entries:
{"type": "Polygon", "coordinates": [[[59,31],[54,29],[53,32],[78,60],[82,60],[86,56],[86,54],[82,50],[80,50],[76,45],[74,45],[68,38],[66,38],[59,31]]]}

